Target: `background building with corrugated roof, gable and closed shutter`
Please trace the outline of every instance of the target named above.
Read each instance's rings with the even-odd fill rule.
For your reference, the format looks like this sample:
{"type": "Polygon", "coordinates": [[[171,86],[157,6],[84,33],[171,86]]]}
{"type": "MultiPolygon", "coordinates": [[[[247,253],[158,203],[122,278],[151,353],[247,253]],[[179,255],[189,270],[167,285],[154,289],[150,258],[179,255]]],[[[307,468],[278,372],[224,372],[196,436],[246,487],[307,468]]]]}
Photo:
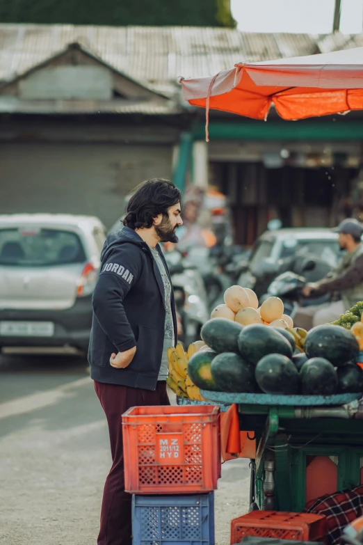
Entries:
{"type": "Polygon", "coordinates": [[[360,112],[268,122],[181,101],[178,77],[360,45],[358,36],[234,29],[0,25],[0,213],[95,214],[106,227],[147,177],[227,194],[239,244],[269,219],[327,226],[360,213],[360,112]]]}

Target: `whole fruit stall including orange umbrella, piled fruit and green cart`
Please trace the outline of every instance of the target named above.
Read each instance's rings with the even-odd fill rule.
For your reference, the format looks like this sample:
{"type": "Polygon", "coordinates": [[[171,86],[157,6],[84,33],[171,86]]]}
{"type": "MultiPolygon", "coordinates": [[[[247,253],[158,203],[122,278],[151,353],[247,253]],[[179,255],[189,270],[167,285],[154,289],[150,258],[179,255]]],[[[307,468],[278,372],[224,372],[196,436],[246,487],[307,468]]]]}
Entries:
{"type": "MultiPolygon", "coordinates": [[[[363,109],[363,48],[236,63],[181,86],[184,100],[206,109],[207,141],[209,109],[259,120],[271,106],[285,120],[348,113],[363,109]]],[[[168,384],[178,404],[216,403],[225,415],[238,409],[240,444],[233,418],[225,418],[225,452],[237,456],[255,442],[251,510],[302,512],[318,496],[354,491],[363,482],[363,303],[307,333],[293,327],[278,298],[259,307],[251,290],[227,292],[200,344],[170,349],[168,384]]]]}

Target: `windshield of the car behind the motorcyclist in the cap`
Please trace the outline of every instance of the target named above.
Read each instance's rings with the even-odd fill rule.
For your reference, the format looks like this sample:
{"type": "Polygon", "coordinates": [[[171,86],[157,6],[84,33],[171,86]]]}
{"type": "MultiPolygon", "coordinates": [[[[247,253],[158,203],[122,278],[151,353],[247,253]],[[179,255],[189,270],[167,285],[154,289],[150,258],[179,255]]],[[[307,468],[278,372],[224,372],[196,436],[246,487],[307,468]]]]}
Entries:
{"type": "Polygon", "coordinates": [[[281,259],[291,258],[293,255],[318,255],[331,267],[337,265],[340,248],[337,240],[333,239],[286,239],[282,243],[281,259]]]}

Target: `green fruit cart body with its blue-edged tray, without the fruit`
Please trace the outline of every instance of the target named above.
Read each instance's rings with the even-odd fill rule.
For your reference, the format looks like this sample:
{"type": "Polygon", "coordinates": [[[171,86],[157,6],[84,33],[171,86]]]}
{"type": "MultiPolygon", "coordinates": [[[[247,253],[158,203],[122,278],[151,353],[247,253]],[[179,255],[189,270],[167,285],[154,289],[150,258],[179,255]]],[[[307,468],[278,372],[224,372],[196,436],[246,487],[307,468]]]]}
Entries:
{"type": "MultiPolygon", "coordinates": [[[[254,430],[255,435],[250,437],[257,440],[256,457],[250,464],[252,510],[302,512],[311,493],[309,464],[317,457],[335,466],[336,490],[362,482],[363,422],[359,417],[363,418],[363,413],[359,394],[324,398],[201,393],[210,400],[204,403],[220,404],[221,410],[236,403],[241,431],[254,430]]],[[[186,402],[203,403],[178,400],[178,404],[186,402]]],[[[334,468],[327,478],[332,474],[334,468]]]]}

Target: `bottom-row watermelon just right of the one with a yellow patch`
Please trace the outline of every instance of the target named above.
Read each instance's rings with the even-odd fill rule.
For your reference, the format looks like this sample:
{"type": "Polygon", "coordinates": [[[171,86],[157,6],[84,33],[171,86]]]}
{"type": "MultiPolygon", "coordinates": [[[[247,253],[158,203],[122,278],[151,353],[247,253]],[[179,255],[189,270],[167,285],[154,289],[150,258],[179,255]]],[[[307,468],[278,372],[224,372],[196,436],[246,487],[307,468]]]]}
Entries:
{"type": "Polygon", "coordinates": [[[220,392],[253,393],[257,390],[255,368],[234,352],[218,354],[211,363],[211,374],[220,392]]]}

